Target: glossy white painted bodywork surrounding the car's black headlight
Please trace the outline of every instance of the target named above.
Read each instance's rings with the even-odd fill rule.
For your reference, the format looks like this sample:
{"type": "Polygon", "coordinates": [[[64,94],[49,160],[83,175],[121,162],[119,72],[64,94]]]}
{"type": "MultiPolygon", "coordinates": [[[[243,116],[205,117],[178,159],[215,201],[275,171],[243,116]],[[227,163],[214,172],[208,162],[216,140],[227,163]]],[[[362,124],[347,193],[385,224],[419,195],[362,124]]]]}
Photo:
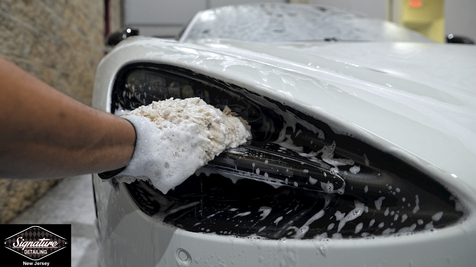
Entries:
{"type": "Polygon", "coordinates": [[[115,195],[96,178],[103,264],[185,266],[175,257],[178,248],[194,259],[190,266],[474,264],[475,59],[473,46],[423,43],[179,43],[139,37],[121,42],[98,67],[96,108],[109,111],[114,76],[127,64],[184,67],[266,95],[396,155],[448,187],[468,215],[451,227],[401,237],[229,238],[155,222],[125,190],[115,195]]]}

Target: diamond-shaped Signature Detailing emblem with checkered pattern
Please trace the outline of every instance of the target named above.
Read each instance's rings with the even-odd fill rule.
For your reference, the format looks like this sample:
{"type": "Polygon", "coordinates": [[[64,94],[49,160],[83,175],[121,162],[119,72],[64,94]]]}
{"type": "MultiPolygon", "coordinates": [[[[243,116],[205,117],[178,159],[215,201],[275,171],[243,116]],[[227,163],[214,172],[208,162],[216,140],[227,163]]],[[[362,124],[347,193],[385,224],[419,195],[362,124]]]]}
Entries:
{"type": "Polygon", "coordinates": [[[39,260],[63,248],[66,239],[39,226],[32,226],[4,241],[5,247],[32,260],[39,260]]]}

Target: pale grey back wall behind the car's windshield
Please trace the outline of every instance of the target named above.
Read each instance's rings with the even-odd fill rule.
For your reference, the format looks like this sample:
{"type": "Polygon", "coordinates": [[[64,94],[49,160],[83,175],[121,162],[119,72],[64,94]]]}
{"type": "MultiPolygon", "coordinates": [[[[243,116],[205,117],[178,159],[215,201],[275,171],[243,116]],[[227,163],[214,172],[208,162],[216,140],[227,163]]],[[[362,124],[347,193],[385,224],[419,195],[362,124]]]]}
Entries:
{"type": "MultiPolygon", "coordinates": [[[[174,37],[198,11],[250,2],[292,2],[335,6],[372,17],[388,19],[389,6],[408,0],[124,0],[124,25],[139,29],[140,35],[174,37]]],[[[426,0],[426,3],[432,0],[426,0]]],[[[425,1],[424,1],[425,2],[425,1]]],[[[476,0],[445,0],[446,34],[466,35],[476,40],[476,0]]],[[[390,19],[399,23],[398,19],[390,19]]]]}

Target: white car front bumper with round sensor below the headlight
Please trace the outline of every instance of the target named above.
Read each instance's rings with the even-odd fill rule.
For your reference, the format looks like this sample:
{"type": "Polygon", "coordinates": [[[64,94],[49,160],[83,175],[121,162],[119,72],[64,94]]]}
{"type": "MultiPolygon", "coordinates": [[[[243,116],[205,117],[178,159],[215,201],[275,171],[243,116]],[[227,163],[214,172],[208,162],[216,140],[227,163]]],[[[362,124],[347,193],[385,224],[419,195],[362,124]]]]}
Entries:
{"type": "Polygon", "coordinates": [[[99,257],[117,266],[471,266],[475,217],[443,229],[347,239],[238,238],[188,232],[139,210],[94,175],[99,257]]]}

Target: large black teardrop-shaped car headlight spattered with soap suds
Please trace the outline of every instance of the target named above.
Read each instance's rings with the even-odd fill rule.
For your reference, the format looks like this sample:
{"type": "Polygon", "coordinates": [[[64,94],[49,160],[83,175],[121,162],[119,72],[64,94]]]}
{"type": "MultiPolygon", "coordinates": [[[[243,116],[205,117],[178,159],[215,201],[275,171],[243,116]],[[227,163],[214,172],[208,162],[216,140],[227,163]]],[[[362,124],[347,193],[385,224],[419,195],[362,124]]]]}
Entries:
{"type": "Polygon", "coordinates": [[[441,228],[464,215],[442,185],[396,157],[266,96],[186,69],[124,67],[111,110],[196,96],[220,109],[228,105],[251,125],[253,140],[165,195],[144,181],[126,185],[143,212],[167,224],[218,235],[354,238],[441,228]],[[237,170],[230,178],[267,183],[226,179],[220,168],[237,170]]]}

